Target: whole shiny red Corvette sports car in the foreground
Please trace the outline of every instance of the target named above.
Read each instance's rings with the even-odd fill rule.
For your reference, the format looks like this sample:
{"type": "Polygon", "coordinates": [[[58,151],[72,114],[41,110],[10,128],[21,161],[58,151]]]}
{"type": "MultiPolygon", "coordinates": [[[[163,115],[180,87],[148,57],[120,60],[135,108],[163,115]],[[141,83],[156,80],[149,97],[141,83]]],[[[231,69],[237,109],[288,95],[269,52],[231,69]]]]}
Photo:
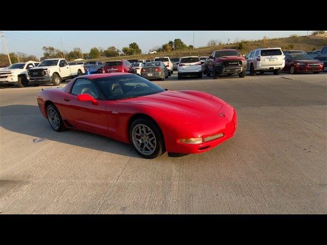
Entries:
{"type": "Polygon", "coordinates": [[[144,158],[206,152],[237,129],[236,110],[214,95],[165,90],[122,72],[41,90],[37,103],[55,131],[77,129],[131,143],[144,158]]]}

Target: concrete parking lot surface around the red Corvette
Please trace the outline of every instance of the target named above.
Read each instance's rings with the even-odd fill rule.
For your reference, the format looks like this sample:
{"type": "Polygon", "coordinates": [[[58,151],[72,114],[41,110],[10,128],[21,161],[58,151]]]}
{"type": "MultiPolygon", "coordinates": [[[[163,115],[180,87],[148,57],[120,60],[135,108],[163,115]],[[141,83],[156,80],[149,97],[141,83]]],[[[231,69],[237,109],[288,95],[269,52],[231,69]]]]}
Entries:
{"type": "Polygon", "coordinates": [[[235,107],[233,138],[203,154],[143,159],[128,144],[52,130],[36,103],[40,87],[0,90],[0,212],[327,213],[326,72],[217,80],[176,73],[154,83],[235,107]]]}

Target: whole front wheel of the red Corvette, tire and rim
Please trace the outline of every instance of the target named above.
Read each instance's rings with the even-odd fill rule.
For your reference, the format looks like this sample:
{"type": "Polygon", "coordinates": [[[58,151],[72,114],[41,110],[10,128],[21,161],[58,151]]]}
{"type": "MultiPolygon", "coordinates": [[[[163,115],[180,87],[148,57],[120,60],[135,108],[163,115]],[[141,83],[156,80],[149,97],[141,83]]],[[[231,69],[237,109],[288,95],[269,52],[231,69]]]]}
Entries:
{"type": "Polygon", "coordinates": [[[132,122],[129,132],[132,146],[141,157],[152,159],[165,152],[164,137],[151,119],[136,119],[132,122]]]}

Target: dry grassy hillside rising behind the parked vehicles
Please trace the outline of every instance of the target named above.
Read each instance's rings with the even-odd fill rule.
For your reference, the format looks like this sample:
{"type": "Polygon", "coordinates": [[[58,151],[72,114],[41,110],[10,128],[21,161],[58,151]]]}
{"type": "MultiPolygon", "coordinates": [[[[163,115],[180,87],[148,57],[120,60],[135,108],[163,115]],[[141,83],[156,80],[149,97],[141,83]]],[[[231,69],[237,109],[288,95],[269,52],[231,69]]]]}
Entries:
{"type": "MultiPolygon", "coordinates": [[[[273,38],[273,39],[261,39],[255,41],[246,41],[242,40],[238,43],[230,43],[224,45],[217,46],[209,46],[209,47],[199,47],[194,50],[178,50],[172,52],[160,52],[151,55],[135,55],[135,56],[121,56],[121,57],[112,57],[100,59],[103,61],[107,60],[118,60],[118,59],[145,59],[151,60],[158,56],[169,56],[173,57],[182,57],[182,56],[209,56],[214,50],[221,50],[225,48],[236,48],[239,50],[241,54],[247,54],[248,52],[254,50],[258,47],[281,47],[283,50],[304,50],[304,51],[312,51],[319,50],[322,46],[327,45],[327,37],[322,35],[317,36],[293,36],[286,38],[273,38]],[[243,43],[240,44],[240,43],[243,43]],[[243,46],[243,48],[239,48],[243,46]]],[[[97,59],[99,60],[99,59],[97,59]]]]}

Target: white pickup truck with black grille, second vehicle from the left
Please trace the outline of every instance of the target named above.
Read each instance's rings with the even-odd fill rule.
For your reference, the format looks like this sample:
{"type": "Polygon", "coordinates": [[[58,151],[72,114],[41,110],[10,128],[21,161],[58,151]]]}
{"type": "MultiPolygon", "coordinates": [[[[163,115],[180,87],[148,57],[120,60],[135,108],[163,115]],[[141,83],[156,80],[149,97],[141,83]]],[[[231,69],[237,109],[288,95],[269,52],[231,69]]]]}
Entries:
{"type": "Polygon", "coordinates": [[[68,65],[65,59],[46,59],[27,71],[29,84],[52,83],[58,86],[61,81],[81,76],[83,65],[68,65]]]}

